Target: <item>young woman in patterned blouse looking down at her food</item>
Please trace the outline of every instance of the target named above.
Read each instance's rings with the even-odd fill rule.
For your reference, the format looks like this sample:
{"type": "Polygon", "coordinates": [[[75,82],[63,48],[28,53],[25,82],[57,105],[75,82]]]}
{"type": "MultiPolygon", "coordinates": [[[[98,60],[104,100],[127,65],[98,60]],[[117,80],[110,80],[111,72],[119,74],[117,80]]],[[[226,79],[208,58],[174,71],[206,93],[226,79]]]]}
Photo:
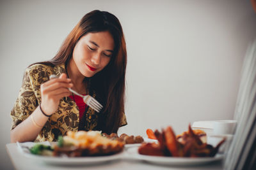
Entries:
{"type": "Polygon", "coordinates": [[[117,132],[127,124],[126,62],[118,18],[99,10],[84,15],[52,60],[26,69],[11,112],[11,141],[56,141],[67,131],[117,132]],[[50,80],[51,74],[59,78],[50,80]],[[97,113],[68,88],[90,94],[104,108],[97,113]]]}

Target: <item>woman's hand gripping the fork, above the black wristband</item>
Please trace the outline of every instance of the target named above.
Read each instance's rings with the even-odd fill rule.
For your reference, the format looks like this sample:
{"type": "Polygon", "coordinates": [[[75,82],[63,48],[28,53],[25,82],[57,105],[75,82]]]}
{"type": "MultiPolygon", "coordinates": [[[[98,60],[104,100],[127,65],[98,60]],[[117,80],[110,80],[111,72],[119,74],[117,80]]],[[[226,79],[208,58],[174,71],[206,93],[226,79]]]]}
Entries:
{"type": "Polygon", "coordinates": [[[62,73],[59,78],[52,78],[43,83],[41,85],[42,111],[47,115],[55,113],[60,104],[60,99],[72,94],[68,90],[69,87],[73,87],[73,84],[65,73],[62,73]]]}

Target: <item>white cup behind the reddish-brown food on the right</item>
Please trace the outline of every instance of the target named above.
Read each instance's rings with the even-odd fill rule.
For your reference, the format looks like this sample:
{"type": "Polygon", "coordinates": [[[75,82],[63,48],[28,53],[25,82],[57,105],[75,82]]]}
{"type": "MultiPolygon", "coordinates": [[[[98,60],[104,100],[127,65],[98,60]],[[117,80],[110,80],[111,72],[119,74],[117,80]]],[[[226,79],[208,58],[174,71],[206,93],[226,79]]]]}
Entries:
{"type": "Polygon", "coordinates": [[[216,120],[213,122],[213,133],[216,135],[234,134],[236,125],[237,120],[216,120]]]}

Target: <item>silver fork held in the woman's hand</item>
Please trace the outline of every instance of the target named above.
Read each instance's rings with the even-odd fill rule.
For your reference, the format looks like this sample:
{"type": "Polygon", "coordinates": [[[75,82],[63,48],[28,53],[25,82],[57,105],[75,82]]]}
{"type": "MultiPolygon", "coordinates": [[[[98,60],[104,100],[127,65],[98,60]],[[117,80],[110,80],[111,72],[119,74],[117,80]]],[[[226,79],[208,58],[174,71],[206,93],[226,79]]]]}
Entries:
{"type": "MultiPolygon", "coordinates": [[[[58,77],[55,74],[52,74],[50,76],[50,79],[51,78],[58,78],[58,77]]],[[[93,110],[97,111],[98,113],[103,108],[103,106],[96,99],[94,99],[92,96],[90,96],[90,95],[83,96],[83,95],[77,93],[75,90],[73,90],[71,88],[68,88],[68,90],[70,90],[70,92],[76,94],[77,96],[82,97],[84,103],[86,103],[88,106],[90,106],[93,110]]]]}

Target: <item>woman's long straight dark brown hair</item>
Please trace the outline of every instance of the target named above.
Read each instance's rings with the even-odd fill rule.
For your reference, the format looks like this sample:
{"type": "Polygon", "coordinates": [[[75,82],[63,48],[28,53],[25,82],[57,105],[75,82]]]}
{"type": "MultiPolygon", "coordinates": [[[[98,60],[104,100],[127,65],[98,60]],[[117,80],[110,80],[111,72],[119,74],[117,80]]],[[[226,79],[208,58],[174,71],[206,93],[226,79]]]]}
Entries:
{"type": "Polygon", "coordinates": [[[111,60],[102,71],[95,74],[91,87],[102,97],[104,110],[100,113],[100,129],[102,132],[117,132],[120,118],[124,113],[125,70],[127,52],[122,26],[115,15],[107,11],[94,10],[84,15],[63,42],[58,53],[47,62],[41,64],[56,66],[67,63],[72,58],[74,47],[79,39],[89,32],[109,31],[113,36],[115,48],[111,60]]]}

